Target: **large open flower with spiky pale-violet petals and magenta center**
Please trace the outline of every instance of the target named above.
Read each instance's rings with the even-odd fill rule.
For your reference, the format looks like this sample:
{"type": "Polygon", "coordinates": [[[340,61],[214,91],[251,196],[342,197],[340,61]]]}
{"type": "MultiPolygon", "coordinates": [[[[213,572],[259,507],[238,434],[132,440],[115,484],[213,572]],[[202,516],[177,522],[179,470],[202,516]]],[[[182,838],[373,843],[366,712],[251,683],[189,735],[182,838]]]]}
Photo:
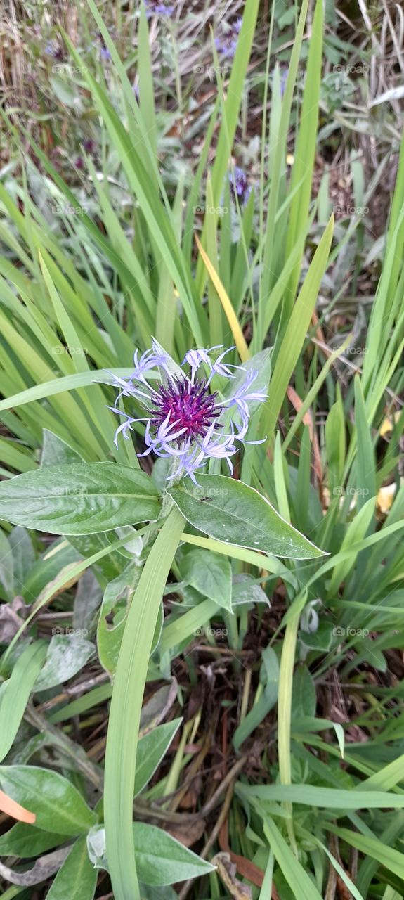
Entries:
{"type": "Polygon", "coordinates": [[[112,411],[124,419],[116,430],[115,444],[120,433],[130,437],[135,422],[146,422],[146,450],[139,455],[153,452],[157,456],[171,456],[176,462],[175,473],[169,478],[189,475],[196,484],[195,472],[209,459],[225,459],[232,472],[230,457],[237,453],[240,444],[249,443],[244,440],[250,419],[248,404],[264,401],[266,394],[251,390],[258,375],[255,369],[225,365],[222,360],[229,350],[212,356],[219,349],[188,350],[183,360],[186,372],[154,339],[151,349],[140,357],[136,350],[130,378],[114,376],[114,385],[120,392],[112,411]],[[228,380],[234,378],[230,369],[246,372],[246,377],[228,398],[221,400],[218,391],[211,391],[211,379],[215,374],[228,380]],[[157,379],[152,377],[152,370],[157,379]],[[118,409],[121,397],[138,401],[145,415],[135,419],[122,412],[118,409]]]}

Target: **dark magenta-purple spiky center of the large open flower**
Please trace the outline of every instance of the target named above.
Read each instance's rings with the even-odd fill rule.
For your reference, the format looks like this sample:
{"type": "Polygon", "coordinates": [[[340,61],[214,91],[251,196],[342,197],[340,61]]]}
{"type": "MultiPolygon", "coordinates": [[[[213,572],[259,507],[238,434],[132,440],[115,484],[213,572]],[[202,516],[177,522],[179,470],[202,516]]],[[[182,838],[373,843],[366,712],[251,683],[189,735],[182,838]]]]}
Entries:
{"type": "Polygon", "coordinates": [[[214,409],[217,391],[209,393],[205,380],[193,384],[187,379],[161,385],[153,395],[154,408],[151,410],[151,425],[159,428],[170,414],[169,424],[186,431],[177,438],[182,444],[186,438],[204,437],[212,422],[220,415],[214,409]]]}

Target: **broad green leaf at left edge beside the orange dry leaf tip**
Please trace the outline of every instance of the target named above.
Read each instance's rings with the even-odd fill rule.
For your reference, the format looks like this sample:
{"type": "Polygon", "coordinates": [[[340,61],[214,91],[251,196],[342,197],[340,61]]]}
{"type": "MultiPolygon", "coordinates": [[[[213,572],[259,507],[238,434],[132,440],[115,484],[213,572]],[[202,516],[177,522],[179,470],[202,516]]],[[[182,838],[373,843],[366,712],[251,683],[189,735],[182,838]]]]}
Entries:
{"type": "Polygon", "coordinates": [[[0,766],[0,785],[5,794],[36,815],[36,826],[45,832],[75,837],[97,821],[78,790],[58,772],[38,766],[0,766]]]}

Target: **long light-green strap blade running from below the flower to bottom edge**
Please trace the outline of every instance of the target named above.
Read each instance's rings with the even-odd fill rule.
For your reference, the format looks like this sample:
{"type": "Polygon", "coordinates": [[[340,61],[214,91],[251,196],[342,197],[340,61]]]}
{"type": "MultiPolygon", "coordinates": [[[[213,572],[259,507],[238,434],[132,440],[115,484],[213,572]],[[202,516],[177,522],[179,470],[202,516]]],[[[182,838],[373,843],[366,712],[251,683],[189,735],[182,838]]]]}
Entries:
{"type": "Polygon", "coordinates": [[[113,685],[103,802],[115,900],[140,900],[132,827],[140,712],[158,609],[184,521],[175,507],[150,551],[130,605],[113,685]]]}

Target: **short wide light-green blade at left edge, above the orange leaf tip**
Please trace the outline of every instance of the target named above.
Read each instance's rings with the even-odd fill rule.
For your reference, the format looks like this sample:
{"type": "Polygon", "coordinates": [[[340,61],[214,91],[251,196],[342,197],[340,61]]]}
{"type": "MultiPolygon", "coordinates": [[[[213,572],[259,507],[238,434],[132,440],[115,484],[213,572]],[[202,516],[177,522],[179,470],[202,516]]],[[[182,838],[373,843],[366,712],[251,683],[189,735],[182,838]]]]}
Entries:
{"type": "Polygon", "coordinates": [[[10,678],[0,688],[0,761],[13,746],[45,656],[45,642],[35,641],[19,656],[10,678]]]}

